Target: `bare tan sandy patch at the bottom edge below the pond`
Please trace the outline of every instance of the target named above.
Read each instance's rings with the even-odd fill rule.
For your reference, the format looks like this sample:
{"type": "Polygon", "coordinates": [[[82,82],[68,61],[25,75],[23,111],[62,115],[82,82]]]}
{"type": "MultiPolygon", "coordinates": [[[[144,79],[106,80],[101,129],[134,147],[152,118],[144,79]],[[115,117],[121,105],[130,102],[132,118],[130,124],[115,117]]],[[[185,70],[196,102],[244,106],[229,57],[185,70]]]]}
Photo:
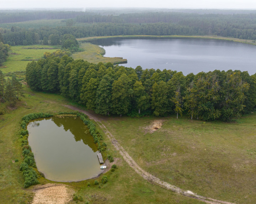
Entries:
{"type": "Polygon", "coordinates": [[[48,183],[33,189],[32,204],[66,204],[72,199],[70,189],[63,184],[48,183]]]}

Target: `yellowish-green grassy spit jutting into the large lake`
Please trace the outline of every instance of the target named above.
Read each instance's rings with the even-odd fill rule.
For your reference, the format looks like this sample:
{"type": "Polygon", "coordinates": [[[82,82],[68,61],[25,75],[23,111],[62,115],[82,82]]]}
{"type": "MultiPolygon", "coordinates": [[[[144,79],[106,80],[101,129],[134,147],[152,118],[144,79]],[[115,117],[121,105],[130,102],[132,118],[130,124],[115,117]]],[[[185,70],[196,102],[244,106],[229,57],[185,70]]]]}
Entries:
{"type": "Polygon", "coordinates": [[[80,43],[80,48],[82,48],[84,51],[76,52],[71,57],[73,57],[74,59],[83,59],[87,62],[95,64],[99,62],[111,62],[113,64],[127,62],[127,60],[123,59],[122,57],[103,57],[103,55],[105,54],[105,50],[102,47],[91,44],[89,42],[80,43]]]}

